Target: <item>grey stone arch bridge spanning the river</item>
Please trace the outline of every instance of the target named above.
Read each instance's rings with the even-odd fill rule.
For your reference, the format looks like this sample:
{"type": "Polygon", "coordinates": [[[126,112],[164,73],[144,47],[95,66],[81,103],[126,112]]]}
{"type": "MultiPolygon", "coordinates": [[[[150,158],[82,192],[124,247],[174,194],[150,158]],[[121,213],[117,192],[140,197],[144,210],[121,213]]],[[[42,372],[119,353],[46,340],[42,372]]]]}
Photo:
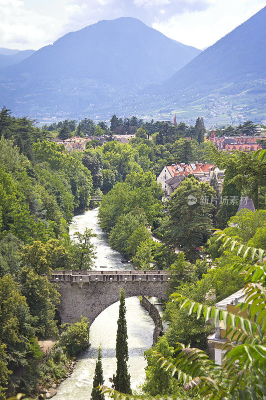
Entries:
{"type": "Polygon", "coordinates": [[[119,300],[120,288],[125,296],[155,296],[166,299],[170,274],[167,271],[56,270],[52,282],[59,286],[58,312],[62,322],[75,322],[86,316],[91,324],[109,305],[119,300]]]}

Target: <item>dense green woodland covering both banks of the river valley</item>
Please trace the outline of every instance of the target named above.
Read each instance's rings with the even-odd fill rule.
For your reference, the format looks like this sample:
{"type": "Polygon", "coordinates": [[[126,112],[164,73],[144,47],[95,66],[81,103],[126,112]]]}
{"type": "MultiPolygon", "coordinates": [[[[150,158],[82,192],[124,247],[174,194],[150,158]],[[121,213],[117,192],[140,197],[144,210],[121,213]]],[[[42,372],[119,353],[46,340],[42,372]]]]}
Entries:
{"type": "MultiPolygon", "coordinates": [[[[133,117],[128,123],[136,131],[136,137],[129,144],[111,140],[112,131],[101,124],[98,127],[105,129],[110,141],[103,146],[96,143],[95,148],[91,146],[71,156],[64,154],[63,146],[49,141],[51,134],[57,135],[57,130],[37,128],[28,118],[11,117],[5,108],[0,111],[1,400],[6,393],[34,393],[44,376],[61,379],[69,357],[88,345],[88,324],[84,319],[73,326],[61,326],[59,338],[56,304],[60,299],[49,277],[52,269],[92,267],[92,232],[88,229],[84,234],[77,232],[73,241],[67,223],[74,213],[89,206],[90,196],[96,190],[106,193],[99,217],[102,228],[110,233],[111,245],[125,256],[133,257],[139,268],[149,269],[154,264],[154,267],[172,270],[169,295],[178,287],[182,295],[211,304],[210,290],[218,301],[243,287],[244,277],[232,268],[235,262],[243,264],[243,260],[237,250],[230,251],[228,246],[222,247],[212,238],[208,241],[213,227],[225,229],[225,234],[248,246],[263,247],[266,241],[265,162],[247,153],[221,154],[213,147],[208,148],[206,143],[186,140],[188,132],[193,133],[196,128],[182,123],[177,127],[170,122],[143,124],[133,117]],[[149,135],[152,140],[148,139],[149,135]],[[226,169],[225,193],[247,192],[254,198],[257,211],[244,211],[235,216],[235,206],[222,204],[205,208],[198,204],[186,211],[185,198],[189,193],[209,196],[217,192],[217,182],[202,184],[188,177],[172,195],[169,214],[163,213],[162,191],[154,171],[158,172],[171,160],[187,162],[200,156],[226,169]],[[184,242],[174,231],[188,229],[188,220],[180,218],[178,207],[184,215],[190,212],[191,220],[200,217],[199,223],[189,226],[192,233],[184,242]],[[148,226],[163,239],[163,245],[151,241],[148,226]],[[212,268],[197,250],[203,245],[212,259],[212,268]],[[178,255],[173,252],[175,246],[182,250],[178,255]],[[52,336],[59,341],[42,362],[36,337],[52,336]],[[21,367],[24,372],[19,377],[14,372],[21,367]]],[[[69,121],[64,121],[59,130],[68,125],[69,121]]],[[[73,123],[72,128],[76,131],[78,124],[73,123]]],[[[199,132],[193,135],[201,141],[199,132]]],[[[165,319],[169,321],[169,328],[164,342],[158,343],[162,346],[160,351],[163,347],[169,351],[177,341],[206,349],[212,325],[203,317],[191,318],[169,300],[165,319]]],[[[150,369],[147,369],[143,391],[148,393],[149,382],[156,378],[152,372],[156,368],[148,352],[146,357],[150,369]]],[[[169,382],[164,393],[173,394],[180,389],[171,379],[169,382]]]]}

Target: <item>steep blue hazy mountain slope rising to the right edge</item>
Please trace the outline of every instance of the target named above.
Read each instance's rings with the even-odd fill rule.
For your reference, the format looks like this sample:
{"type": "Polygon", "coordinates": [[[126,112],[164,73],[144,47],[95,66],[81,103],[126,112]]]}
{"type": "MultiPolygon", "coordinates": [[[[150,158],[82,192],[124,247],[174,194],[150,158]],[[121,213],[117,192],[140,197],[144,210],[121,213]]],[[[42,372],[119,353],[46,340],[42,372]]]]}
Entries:
{"type": "Polygon", "coordinates": [[[213,112],[222,103],[235,103],[244,113],[248,111],[251,118],[259,109],[261,116],[265,115],[265,20],[266,7],[173,76],[145,88],[134,98],[134,108],[139,112],[153,109],[164,113],[195,106],[204,114],[206,110],[213,112]]]}

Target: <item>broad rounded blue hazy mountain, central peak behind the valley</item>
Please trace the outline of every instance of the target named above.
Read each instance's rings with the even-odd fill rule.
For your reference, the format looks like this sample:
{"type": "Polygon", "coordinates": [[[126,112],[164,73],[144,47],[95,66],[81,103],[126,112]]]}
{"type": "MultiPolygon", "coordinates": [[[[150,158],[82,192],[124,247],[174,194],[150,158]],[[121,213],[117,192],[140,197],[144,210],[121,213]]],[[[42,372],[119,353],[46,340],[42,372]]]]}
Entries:
{"type": "Polygon", "coordinates": [[[200,52],[135,18],[102,20],[1,69],[1,105],[33,116],[97,110],[170,77],[200,52]]]}

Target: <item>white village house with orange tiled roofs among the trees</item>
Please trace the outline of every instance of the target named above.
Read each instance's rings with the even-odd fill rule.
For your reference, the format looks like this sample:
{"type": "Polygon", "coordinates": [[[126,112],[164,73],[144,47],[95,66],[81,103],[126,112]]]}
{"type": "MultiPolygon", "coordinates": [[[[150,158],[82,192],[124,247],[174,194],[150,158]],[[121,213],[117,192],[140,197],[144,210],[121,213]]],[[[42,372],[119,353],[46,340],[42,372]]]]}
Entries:
{"type": "Polygon", "coordinates": [[[204,162],[185,164],[183,162],[181,164],[166,165],[157,177],[157,182],[161,183],[165,194],[170,196],[188,175],[198,177],[200,181],[210,181],[213,176],[217,176],[220,172],[220,169],[214,164],[204,162]]]}

